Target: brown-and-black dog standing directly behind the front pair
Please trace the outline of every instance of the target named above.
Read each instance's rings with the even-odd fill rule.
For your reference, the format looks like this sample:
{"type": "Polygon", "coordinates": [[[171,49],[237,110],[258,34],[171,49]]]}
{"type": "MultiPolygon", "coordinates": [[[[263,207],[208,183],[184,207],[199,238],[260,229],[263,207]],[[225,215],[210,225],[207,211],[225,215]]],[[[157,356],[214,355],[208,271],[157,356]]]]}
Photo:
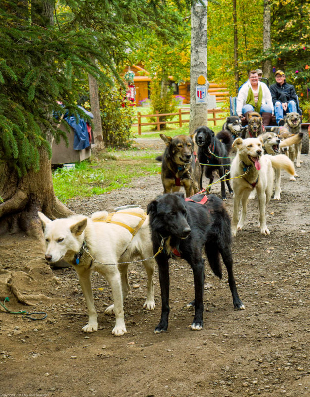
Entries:
{"type": "Polygon", "coordinates": [[[161,166],[163,193],[178,192],[181,186],[185,189],[186,197],[199,192],[201,167],[194,154],[192,137],[177,135],[171,138],[163,133],[160,137],[167,145],[161,166]]]}

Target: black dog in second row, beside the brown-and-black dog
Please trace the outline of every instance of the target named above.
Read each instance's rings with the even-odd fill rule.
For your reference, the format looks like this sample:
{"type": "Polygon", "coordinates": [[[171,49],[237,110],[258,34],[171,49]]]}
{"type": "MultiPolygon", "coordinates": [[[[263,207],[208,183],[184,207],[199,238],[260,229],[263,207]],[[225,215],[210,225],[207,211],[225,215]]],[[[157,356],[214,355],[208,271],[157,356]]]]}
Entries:
{"type": "MultiPolygon", "coordinates": [[[[214,131],[210,130],[208,127],[202,126],[195,130],[195,141],[198,146],[198,160],[205,167],[205,176],[209,179],[209,184],[213,183],[213,171],[218,170],[221,179],[221,195],[222,200],[226,201],[225,192],[225,174],[230,168],[230,159],[228,158],[228,153],[231,148],[231,136],[226,132],[222,134],[223,142],[221,142],[214,134],[214,131]]],[[[200,187],[202,189],[202,179],[200,180],[200,187]]],[[[233,193],[229,181],[226,181],[229,193],[233,193]]]]}

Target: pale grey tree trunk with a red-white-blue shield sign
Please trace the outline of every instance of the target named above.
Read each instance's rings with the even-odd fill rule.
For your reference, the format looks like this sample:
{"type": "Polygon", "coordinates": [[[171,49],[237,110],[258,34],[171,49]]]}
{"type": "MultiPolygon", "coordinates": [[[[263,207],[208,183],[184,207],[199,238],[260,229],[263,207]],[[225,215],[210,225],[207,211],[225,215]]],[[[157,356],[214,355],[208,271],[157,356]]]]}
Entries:
{"type": "Polygon", "coordinates": [[[206,7],[200,3],[192,5],[191,13],[191,111],[189,132],[192,135],[199,126],[207,126],[207,103],[196,103],[196,86],[205,86],[207,82],[207,1],[206,7]],[[203,76],[205,83],[198,84],[203,76]]]}

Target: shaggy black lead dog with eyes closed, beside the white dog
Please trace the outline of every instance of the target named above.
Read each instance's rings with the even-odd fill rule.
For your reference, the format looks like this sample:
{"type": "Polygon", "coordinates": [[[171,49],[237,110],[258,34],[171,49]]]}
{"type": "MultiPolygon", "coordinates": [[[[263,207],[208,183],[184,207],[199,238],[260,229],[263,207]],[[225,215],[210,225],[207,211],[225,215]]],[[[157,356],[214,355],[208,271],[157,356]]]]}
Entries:
{"type": "Polygon", "coordinates": [[[181,193],[166,194],[149,203],[151,239],[156,256],[161,289],[161,319],[155,333],[167,331],[169,316],[169,258],[185,259],[194,274],[195,307],[192,330],[203,328],[204,259],[203,248],[212,271],[222,278],[220,256],[228,272],[228,283],[236,309],[244,309],[233,274],[230,218],[220,198],[208,196],[202,205],[186,201],[181,193]]]}

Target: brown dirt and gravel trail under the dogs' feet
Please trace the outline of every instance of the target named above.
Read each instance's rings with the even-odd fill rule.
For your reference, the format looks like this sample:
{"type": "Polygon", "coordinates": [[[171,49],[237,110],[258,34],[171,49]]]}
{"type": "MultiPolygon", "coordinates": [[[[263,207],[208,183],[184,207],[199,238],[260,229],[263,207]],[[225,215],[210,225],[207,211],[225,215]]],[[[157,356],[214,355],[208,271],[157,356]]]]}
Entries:
{"type": "MultiPolygon", "coordinates": [[[[151,145],[154,142],[151,143],[151,145]]],[[[158,142],[157,142],[158,143],[158,142]]],[[[144,143],[144,145],[146,145],[144,143]]],[[[156,309],[142,309],[146,296],[143,266],[130,268],[132,290],[125,302],[128,334],[113,337],[114,319],[104,314],[111,292],[93,274],[100,329],[83,334],[85,303],[71,268],[50,269],[41,243],[25,236],[0,240],[3,280],[34,306],[12,299],[12,310],[44,311],[32,321],[0,310],[0,396],[187,397],[308,396],[310,391],[310,157],[289,182],[282,174],[282,199],[267,205],[271,235],[260,236],[257,200],[248,206],[244,230],[233,241],[235,276],[246,309],[233,309],[226,271],[218,280],[206,263],[204,329],[191,331],[193,277],[184,261],[171,261],[168,332],[155,335],[160,318],[158,271],[156,309]],[[13,272],[13,273],[11,273],[13,272]],[[13,274],[13,275],[12,275],[13,274]],[[24,294],[25,293],[25,294],[24,294]]],[[[132,187],[89,200],[71,200],[79,213],[147,203],[162,191],[160,175],[141,178],[132,187]]],[[[214,189],[219,193],[219,187],[214,189]]],[[[232,199],[227,209],[232,213],[232,199]]]]}

